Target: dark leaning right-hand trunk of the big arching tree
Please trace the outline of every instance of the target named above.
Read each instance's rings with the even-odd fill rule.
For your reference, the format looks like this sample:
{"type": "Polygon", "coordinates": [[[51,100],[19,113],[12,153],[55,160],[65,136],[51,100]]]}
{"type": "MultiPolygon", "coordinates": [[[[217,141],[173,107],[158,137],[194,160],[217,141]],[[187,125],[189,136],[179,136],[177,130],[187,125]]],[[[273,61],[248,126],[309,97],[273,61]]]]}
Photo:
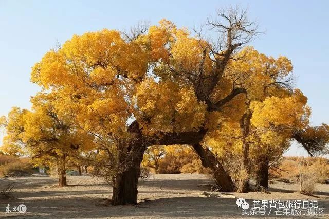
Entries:
{"type": "Polygon", "coordinates": [[[217,157],[208,148],[203,148],[201,144],[194,144],[193,148],[199,155],[202,165],[212,170],[214,180],[220,187],[220,190],[223,192],[232,192],[234,190],[233,181],[217,157]]]}

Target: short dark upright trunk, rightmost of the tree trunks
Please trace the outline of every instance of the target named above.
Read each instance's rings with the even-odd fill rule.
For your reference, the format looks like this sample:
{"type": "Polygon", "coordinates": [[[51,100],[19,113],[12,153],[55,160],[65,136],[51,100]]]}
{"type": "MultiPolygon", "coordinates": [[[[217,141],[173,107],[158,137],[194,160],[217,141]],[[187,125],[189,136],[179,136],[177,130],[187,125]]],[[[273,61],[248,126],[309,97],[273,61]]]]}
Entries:
{"type": "Polygon", "coordinates": [[[256,171],[256,188],[258,190],[268,189],[268,157],[261,156],[256,171]]]}

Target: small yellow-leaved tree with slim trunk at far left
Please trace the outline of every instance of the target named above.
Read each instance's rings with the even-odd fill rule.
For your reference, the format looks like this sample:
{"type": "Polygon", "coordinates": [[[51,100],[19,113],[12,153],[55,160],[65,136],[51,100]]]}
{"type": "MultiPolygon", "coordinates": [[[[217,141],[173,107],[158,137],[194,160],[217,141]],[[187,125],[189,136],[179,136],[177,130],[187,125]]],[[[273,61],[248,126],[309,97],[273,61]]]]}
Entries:
{"type": "Polygon", "coordinates": [[[24,150],[35,163],[56,165],[62,187],[66,186],[67,157],[87,150],[93,139],[77,129],[69,111],[54,107],[56,102],[51,95],[39,94],[32,98],[32,111],[14,107],[8,115],[3,147],[24,150]]]}

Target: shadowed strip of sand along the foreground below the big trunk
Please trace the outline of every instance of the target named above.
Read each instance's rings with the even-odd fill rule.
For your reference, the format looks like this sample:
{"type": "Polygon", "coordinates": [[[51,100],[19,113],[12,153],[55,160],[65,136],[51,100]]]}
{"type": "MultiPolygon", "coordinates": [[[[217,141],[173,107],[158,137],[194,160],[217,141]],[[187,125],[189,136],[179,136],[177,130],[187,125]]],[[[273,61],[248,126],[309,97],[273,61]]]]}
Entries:
{"type": "MultiPolygon", "coordinates": [[[[252,200],[246,199],[246,202],[252,205],[252,200]]],[[[24,217],[242,217],[242,208],[236,206],[235,199],[229,198],[160,198],[148,202],[141,202],[138,205],[126,206],[102,206],[99,205],[99,203],[99,198],[35,199],[21,202],[21,204],[25,204],[28,209],[28,213],[24,214],[24,217]]],[[[0,207],[2,208],[3,206],[0,207]]],[[[324,212],[328,212],[329,201],[319,201],[319,207],[323,207],[324,212]]],[[[267,215],[266,218],[268,217],[276,217],[276,215],[267,215]]]]}

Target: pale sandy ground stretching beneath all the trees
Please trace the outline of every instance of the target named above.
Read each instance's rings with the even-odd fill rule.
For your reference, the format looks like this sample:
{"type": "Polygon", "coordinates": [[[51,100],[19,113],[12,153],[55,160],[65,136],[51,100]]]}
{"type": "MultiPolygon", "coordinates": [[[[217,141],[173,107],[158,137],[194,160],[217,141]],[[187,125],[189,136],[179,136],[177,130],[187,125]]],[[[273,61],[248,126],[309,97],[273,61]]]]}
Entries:
{"type": "MultiPolygon", "coordinates": [[[[206,197],[213,180],[206,175],[172,174],[151,175],[140,181],[138,205],[109,206],[112,188],[99,178],[68,176],[70,186],[58,188],[57,178],[22,177],[0,179],[0,186],[15,182],[15,199],[0,200],[0,217],[22,218],[244,218],[237,208],[235,198],[206,197]],[[146,199],[146,200],[145,200],[146,199]],[[5,213],[7,205],[25,204],[27,212],[5,213]]],[[[275,182],[270,184],[270,194],[249,192],[230,193],[236,198],[252,200],[318,200],[324,208],[323,218],[329,218],[329,185],[317,185],[315,196],[300,195],[297,184],[275,182]]],[[[275,217],[275,215],[272,215],[275,217]]],[[[266,216],[269,217],[269,216],[266,216]]],[[[277,216],[278,218],[281,218],[277,216]]],[[[248,218],[252,218],[248,216],[248,218]]],[[[312,218],[318,218],[313,216],[312,218]]]]}

